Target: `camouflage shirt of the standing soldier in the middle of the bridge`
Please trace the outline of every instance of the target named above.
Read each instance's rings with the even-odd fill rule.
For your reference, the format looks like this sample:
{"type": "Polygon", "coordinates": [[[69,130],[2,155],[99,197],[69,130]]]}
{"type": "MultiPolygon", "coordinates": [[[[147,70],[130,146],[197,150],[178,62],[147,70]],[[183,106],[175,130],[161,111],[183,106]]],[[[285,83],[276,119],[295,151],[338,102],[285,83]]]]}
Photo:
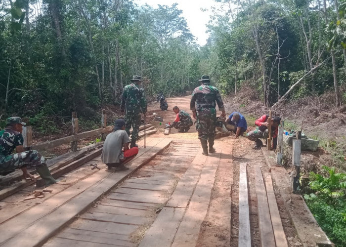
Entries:
{"type": "Polygon", "coordinates": [[[192,111],[195,109],[200,111],[202,109],[215,108],[216,103],[218,109],[222,111],[224,107],[218,89],[209,83],[203,83],[193,90],[190,108],[192,111]]]}

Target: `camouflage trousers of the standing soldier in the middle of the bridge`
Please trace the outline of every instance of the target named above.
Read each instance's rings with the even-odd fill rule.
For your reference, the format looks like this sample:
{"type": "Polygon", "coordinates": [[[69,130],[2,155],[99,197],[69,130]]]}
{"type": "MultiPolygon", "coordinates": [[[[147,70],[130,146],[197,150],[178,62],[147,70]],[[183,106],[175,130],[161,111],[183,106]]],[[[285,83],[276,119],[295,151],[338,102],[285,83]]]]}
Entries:
{"type": "Polygon", "coordinates": [[[214,139],[216,131],[216,109],[203,109],[197,111],[196,130],[198,131],[198,139],[208,140],[214,139]]]}

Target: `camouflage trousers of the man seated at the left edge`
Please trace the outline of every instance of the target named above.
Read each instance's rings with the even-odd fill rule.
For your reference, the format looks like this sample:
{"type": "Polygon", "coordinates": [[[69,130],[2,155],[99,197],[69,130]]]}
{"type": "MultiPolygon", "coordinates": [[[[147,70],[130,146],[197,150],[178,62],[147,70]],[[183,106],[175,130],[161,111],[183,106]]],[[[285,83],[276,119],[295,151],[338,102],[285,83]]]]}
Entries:
{"type": "Polygon", "coordinates": [[[29,150],[8,156],[0,156],[0,172],[11,171],[23,166],[36,168],[43,165],[46,165],[46,160],[36,150],[29,150]]]}

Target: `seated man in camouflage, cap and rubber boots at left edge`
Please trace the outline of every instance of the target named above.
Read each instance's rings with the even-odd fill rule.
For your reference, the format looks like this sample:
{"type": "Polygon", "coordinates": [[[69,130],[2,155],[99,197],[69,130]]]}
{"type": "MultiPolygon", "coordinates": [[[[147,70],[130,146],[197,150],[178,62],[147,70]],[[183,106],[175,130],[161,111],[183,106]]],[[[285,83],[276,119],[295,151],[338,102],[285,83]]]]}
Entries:
{"type": "Polygon", "coordinates": [[[46,160],[36,150],[24,152],[22,135],[23,126],[26,125],[19,117],[11,117],[6,120],[6,127],[0,131],[0,172],[5,175],[17,168],[23,171],[23,177],[35,177],[30,174],[27,167],[36,168],[44,180],[45,185],[56,183],[46,165],[46,160]],[[15,154],[12,152],[16,150],[15,154]]]}

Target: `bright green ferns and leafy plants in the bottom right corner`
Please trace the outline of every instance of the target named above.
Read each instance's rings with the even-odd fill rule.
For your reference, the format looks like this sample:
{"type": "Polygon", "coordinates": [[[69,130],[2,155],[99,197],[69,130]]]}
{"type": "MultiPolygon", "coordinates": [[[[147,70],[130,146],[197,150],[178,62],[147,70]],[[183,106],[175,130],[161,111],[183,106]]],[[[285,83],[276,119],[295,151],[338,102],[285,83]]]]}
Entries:
{"type": "Polygon", "coordinates": [[[322,166],[327,176],[310,172],[310,189],[304,195],[318,224],[337,247],[346,245],[346,174],[322,166]]]}

